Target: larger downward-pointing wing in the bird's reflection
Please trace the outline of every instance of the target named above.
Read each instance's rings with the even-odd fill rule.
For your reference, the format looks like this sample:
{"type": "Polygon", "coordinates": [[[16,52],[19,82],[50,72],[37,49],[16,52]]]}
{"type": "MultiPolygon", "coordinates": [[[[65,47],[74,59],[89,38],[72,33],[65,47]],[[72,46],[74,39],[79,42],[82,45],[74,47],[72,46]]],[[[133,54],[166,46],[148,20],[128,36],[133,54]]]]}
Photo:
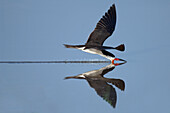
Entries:
{"type": "Polygon", "coordinates": [[[95,89],[97,94],[107,101],[112,107],[115,108],[117,95],[115,88],[101,80],[92,80],[87,78],[89,85],[95,89]]]}

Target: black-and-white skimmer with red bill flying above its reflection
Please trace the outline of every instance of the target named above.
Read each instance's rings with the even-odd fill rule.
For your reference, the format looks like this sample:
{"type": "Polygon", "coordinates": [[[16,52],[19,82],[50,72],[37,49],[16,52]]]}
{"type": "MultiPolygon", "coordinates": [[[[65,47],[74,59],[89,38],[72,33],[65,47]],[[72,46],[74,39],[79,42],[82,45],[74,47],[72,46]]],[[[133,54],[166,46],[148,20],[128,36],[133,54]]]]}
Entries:
{"type": "Polygon", "coordinates": [[[75,48],[82,50],[84,52],[98,54],[111,60],[112,63],[114,63],[115,60],[124,61],[122,59],[115,58],[115,56],[112,53],[106,51],[106,49],[116,49],[119,51],[124,51],[125,50],[124,44],[121,44],[117,47],[103,46],[104,41],[109,36],[111,36],[113,31],[115,30],[115,25],[116,25],[116,8],[115,4],[113,4],[108,10],[108,12],[105,13],[105,15],[99,20],[99,22],[96,25],[96,28],[90,34],[85,45],[67,45],[67,44],[64,45],[66,48],[75,48]]]}

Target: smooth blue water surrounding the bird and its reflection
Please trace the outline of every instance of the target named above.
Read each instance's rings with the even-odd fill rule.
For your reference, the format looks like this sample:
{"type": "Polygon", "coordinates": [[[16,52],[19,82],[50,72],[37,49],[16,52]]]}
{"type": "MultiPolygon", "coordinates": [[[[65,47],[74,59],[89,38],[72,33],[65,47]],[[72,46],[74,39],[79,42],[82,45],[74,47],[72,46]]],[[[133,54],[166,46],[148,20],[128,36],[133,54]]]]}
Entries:
{"type": "MultiPolygon", "coordinates": [[[[112,1],[0,1],[0,60],[106,60],[66,49],[83,44],[112,1]]],[[[122,79],[116,108],[86,80],[67,76],[103,64],[0,64],[0,113],[160,113],[170,112],[170,1],[116,1],[118,21],[105,45],[124,43],[127,60],[105,75],[122,79]]]]}

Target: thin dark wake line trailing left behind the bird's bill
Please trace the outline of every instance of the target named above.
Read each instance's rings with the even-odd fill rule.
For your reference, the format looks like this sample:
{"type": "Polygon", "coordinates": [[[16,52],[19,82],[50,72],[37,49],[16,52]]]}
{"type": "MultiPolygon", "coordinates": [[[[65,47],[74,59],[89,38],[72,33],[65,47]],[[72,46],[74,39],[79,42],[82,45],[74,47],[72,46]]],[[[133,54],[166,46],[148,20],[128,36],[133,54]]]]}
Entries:
{"type": "Polygon", "coordinates": [[[110,61],[0,61],[2,64],[28,64],[28,63],[110,63],[110,61]]]}

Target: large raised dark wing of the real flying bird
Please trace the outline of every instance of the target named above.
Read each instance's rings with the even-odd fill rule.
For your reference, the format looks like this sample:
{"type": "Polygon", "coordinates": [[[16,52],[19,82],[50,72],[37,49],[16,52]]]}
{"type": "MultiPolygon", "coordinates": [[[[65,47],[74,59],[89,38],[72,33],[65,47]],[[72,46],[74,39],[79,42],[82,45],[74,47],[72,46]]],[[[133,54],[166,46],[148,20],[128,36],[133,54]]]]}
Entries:
{"type": "Polygon", "coordinates": [[[90,34],[86,47],[102,46],[104,41],[112,35],[116,25],[116,8],[113,4],[107,13],[97,23],[96,28],[90,34]]]}

